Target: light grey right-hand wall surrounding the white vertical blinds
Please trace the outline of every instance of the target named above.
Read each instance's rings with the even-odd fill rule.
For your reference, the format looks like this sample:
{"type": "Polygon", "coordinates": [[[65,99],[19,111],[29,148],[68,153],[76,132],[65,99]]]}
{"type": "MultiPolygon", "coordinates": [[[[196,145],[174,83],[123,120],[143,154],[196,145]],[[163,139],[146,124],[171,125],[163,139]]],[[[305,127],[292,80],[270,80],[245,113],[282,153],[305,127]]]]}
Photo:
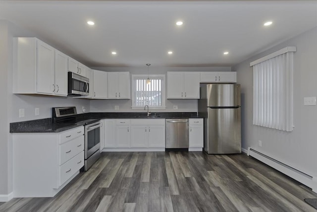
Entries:
{"type": "Polygon", "coordinates": [[[317,96],[317,27],[232,68],[242,95],[242,147],[249,146],[311,176],[317,176],[317,106],[304,106],[304,97],[317,96]],[[252,124],[253,74],[250,62],[287,46],[294,54],[294,131],[287,133],[252,124]],[[262,141],[262,147],[258,141],[262,141]]]}

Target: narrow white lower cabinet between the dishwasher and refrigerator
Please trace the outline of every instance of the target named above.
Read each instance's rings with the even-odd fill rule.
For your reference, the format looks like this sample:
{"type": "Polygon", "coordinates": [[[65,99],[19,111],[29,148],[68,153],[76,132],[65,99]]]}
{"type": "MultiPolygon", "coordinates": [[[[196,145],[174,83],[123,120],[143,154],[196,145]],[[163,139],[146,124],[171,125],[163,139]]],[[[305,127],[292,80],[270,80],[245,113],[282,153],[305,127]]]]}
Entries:
{"type": "Polygon", "coordinates": [[[204,147],[204,119],[189,119],[189,150],[202,151],[204,147]]]}

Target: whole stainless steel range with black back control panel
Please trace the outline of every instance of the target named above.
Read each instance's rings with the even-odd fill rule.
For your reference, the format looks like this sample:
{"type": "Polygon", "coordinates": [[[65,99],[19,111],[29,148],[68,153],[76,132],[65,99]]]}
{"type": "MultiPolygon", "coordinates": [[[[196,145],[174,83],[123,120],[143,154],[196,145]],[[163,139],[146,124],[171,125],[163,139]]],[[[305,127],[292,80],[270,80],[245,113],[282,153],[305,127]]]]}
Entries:
{"type": "Polygon", "coordinates": [[[78,118],[76,107],[53,107],[53,123],[78,123],[85,128],[85,165],[87,171],[100,158],[100,127],[99,119],[78,118]]]}

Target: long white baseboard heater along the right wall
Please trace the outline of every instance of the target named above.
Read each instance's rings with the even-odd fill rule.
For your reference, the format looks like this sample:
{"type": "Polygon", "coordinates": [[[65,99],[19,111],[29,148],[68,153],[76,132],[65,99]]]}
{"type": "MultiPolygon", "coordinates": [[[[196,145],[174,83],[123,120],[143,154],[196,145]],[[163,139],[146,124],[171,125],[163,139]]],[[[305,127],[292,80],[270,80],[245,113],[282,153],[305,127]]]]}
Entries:
{"type": "MultiPolygon", "coordinates": [[[[248,147],[248,156],[252,156],[266,165],[271,166],[272,168],[282,172],[283,174],[297,180],[298,182],[310,187],[313,191],[316,189],[316,182],[314,182],[313,176],[310,176],[302,171],[299,171],[289,165],[286,165],[278,160],[275,160],[272,157],[269,157],[251,147],[248,147]]],[[[316,192],[316,191],[314,191],[316,192]]]]}

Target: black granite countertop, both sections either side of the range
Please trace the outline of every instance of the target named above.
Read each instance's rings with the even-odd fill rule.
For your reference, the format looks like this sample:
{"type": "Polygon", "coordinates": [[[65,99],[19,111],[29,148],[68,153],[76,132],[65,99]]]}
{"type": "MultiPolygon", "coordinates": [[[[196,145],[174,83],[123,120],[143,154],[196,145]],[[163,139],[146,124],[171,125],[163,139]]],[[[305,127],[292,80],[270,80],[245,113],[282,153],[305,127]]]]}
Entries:
{"type": "MultiPolygon", "coordinates": [[[[149,117],[146,112],[143,113],[83,113],[76,115],[78,119],[187,119],[187,118],[202,118],[197,116],[195,112],[153,112],[149,117]]],[[[52,123],[52,118],[37,119],[25,122],[10,123],[10,133],[59,133],[70,130],[79,126],[82,123],[52,123]]]]}

